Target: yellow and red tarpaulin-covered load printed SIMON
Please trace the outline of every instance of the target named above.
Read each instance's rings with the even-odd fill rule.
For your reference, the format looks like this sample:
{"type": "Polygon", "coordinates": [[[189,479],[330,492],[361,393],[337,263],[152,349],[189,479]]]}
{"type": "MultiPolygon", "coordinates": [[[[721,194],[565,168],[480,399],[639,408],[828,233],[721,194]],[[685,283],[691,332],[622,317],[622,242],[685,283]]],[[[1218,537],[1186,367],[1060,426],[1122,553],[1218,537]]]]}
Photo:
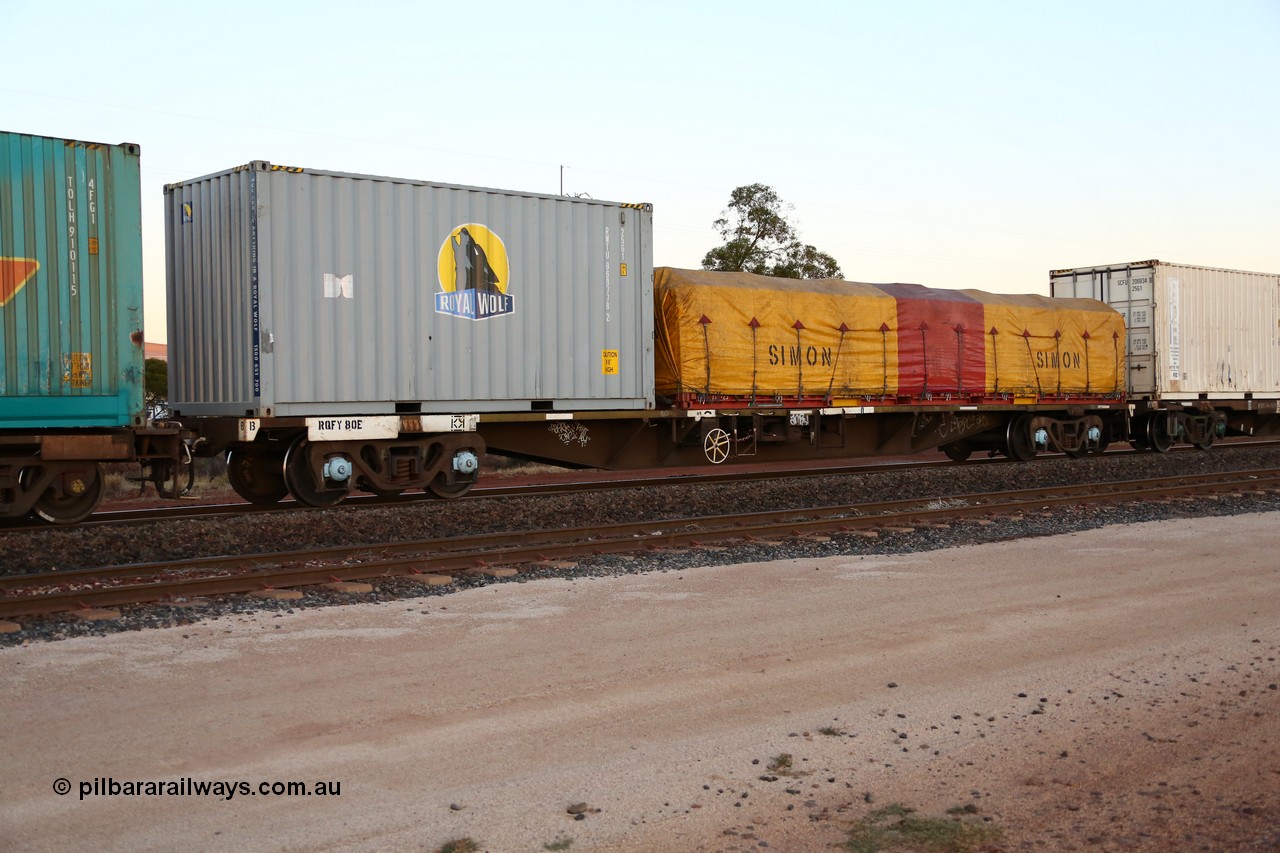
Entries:
{"type": "Polygon", "coordinates": [[[658,268],[657,392],[684,406],[1121,398],[1124,319],[1087,298],[658,268]]]}

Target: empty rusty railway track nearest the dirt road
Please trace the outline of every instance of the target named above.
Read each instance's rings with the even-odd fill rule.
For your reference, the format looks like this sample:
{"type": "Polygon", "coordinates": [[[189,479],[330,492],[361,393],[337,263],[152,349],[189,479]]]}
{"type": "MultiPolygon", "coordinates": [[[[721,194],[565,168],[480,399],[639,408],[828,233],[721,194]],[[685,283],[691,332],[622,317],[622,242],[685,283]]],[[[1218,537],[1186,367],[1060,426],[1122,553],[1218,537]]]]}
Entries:
{"type": "Polygon", "coordinates": [[[516,574],[548,561],[658,548],[817,534],[910,533],[960,519],[1043,512],[1124,501],[1198,500],[1213,493],[1280,491],[1280,470],[1258,469],[1080,485],[910,498],[666,521],[522,530],[383,546],[329,547],[234,557],[102,566],[0,576],[0,619],[84,608],[183,602],[202,596],[280,590],[353,580],[410,578],[445,584],[458,574],[516,574]]]}

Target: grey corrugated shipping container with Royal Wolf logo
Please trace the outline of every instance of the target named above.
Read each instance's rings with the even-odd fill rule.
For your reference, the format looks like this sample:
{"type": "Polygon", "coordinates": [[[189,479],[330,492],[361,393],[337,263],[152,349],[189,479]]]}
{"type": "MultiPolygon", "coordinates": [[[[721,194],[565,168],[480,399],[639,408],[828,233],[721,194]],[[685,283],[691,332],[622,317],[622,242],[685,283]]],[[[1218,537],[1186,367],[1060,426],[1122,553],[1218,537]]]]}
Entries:
{"type": "Polygon", "coordinates": [[[649,205],[255,161],[165,225],[180,414],[653,407],[649,205]]]}

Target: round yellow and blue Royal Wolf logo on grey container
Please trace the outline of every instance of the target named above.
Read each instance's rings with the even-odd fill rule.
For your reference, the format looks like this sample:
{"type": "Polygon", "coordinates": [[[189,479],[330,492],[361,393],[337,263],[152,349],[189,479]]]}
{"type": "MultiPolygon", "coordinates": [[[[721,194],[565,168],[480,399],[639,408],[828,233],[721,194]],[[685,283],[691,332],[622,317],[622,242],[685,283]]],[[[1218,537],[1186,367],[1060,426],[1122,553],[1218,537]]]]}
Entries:
{"type": "Polygon", "coordinates": [[[488,320],[516,310],[515,298],[507,292],[511,275],[507,247],[485,225],[467,223],[449,232],[438,264],[436,314],[488,320]]]}

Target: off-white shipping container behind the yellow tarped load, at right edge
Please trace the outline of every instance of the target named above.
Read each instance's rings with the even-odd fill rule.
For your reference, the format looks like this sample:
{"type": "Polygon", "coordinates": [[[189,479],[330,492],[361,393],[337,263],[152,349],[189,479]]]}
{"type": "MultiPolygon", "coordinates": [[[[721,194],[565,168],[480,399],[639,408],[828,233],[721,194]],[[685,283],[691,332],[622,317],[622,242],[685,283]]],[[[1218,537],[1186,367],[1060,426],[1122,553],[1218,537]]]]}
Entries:
{"type": "Polygon", "coordinates": [[[1133,397],[1280,397],[1277,274],[1147,260],[1053,270],[1050,293],[1124,314],[1133,397]]]}

